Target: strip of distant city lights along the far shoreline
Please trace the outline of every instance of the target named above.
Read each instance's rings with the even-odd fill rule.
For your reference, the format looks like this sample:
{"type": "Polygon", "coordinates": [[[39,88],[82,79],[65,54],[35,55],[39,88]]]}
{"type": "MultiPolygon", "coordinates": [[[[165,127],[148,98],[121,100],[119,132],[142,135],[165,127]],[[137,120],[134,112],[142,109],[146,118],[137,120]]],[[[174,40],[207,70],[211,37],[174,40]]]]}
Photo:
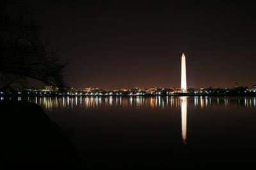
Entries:
{"type": "MultiPolygon", "coordinates": [[[[98,89],[98,88],[86,88],[84,90],[81,89],[66,89],[64,91],[60,91],[58,88],[52,88],[52,87],[44,87],[44,89],[24,89],[23,90],[17,90],[14,91],[14,94],[19,95],[36,95],[36,96],[47,96],[49,94],[54,94],[56,96],[179,96],[180,95],[180,88],[150,88],[150,89],[141,89],[136,87],[135,89],[112,89],[112,90],[104,90],[104,89],[98,89]]],[[[186,93],[188,95],[243,95],[243,94],[255,94],[256,92],[256,86],[252,86],[248,89],[243,89],[243,87],[234,88],[234,89],[213,89],[213,88],[191,88],[186,89],[186,93]]],[[[11,92],[0,92],[1,96],[4,95],[11,95],[11,92]]]]}

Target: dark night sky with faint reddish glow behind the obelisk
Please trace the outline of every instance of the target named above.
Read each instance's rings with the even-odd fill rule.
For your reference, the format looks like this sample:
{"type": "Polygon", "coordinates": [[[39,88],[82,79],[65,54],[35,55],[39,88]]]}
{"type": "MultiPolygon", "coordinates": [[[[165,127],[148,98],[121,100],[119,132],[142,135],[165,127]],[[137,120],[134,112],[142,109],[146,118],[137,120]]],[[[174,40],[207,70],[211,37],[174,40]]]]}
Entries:
{"type": "Polygon", "coordinates": [[[256,83],[253,4],[125,2],[29,3],[71,87],[180,87],[182,52],[189,87],[256,83]]]}

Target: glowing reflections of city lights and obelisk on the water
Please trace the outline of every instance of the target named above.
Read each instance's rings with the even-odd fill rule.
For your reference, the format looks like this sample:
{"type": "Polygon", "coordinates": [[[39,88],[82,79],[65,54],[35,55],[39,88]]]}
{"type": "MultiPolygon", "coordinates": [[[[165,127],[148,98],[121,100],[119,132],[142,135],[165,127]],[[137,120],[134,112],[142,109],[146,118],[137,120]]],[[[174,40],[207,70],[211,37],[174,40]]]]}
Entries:
{"type": "Polygon", "coordinates": [[[204,109],[211,106],[256,107],[256,97],[1,97],[0,100],[30,101],[39,104],[45,111],[75,108],[100,110],[106,108],[151,108],[179,109],[181,117],[182,141],[187,144],[188,101],[194,108],[204,109]]]}

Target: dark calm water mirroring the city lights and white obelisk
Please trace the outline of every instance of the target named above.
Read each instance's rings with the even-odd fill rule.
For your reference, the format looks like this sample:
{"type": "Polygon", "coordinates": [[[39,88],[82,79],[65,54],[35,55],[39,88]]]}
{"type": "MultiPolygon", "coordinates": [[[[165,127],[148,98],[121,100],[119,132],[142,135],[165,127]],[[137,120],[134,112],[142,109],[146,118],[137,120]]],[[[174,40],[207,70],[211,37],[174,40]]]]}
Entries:
{"type": "Polygon", "coordinates": [[[89,169],[244,168],[256,153],[256,97],[10,99],[42,106],[89,169]]]}

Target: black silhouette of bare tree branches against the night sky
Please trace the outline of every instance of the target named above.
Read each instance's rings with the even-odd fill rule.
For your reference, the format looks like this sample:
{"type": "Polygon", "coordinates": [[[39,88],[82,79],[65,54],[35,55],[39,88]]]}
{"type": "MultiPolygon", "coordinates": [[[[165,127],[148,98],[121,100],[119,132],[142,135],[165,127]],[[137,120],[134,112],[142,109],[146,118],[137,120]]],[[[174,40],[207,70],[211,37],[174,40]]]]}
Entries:
{"type": "Polygon", "coordinates": [[[24,87],[30,79],[63,87],[67,64],[48,50],[40,39],[41,27],[28,19],[26,9],[17,2],[6,1],[0,7],[0,89],[13,84],[24,87]]]}

